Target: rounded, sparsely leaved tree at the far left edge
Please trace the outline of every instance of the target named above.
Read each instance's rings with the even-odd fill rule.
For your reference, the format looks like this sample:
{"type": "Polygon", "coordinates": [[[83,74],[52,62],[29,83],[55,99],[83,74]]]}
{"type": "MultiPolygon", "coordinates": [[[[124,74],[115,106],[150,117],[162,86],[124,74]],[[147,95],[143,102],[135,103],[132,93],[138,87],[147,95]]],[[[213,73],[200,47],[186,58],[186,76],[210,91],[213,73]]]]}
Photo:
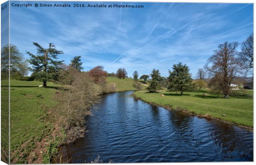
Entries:
{"type": "Polygon", "coordinates": [[[14,44],[1,49],[1,79],[8,79],[9,69],[11,79],[20,79],[28,74],[28,61],[14,44]]]}

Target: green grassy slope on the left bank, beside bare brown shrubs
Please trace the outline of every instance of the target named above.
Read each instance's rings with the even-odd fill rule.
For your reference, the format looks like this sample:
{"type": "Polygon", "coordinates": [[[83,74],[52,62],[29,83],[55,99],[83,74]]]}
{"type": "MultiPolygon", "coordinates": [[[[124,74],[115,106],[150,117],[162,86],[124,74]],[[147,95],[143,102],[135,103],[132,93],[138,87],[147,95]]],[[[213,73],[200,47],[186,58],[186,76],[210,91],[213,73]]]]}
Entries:
{"type": "MultiPolygon", "coordinates": [[[[7,93],[6,80],[1,92],[7,93]]],[[[53,129],[47,121],[47,109],[55,102],[53,88],[39,88],[42,82],[11,80],[10,86],[10,151],[11,163],[27,163],[28,155],[53,129]]],[[[49,87],[56,86],[47,83],[49,87]]]]}

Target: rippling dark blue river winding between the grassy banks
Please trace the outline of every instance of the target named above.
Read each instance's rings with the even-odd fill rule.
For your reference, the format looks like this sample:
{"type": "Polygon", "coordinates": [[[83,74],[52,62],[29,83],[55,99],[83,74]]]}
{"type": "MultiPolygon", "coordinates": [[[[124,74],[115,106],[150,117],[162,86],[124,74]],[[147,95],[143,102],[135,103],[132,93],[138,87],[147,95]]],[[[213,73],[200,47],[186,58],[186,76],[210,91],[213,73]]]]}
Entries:
{"type": "Polygon", "coordinates": [[[85,137],[65,146],[71,163],[253,161],[253,132],[149,105],[133,91],[102,95],[85,137]]]}

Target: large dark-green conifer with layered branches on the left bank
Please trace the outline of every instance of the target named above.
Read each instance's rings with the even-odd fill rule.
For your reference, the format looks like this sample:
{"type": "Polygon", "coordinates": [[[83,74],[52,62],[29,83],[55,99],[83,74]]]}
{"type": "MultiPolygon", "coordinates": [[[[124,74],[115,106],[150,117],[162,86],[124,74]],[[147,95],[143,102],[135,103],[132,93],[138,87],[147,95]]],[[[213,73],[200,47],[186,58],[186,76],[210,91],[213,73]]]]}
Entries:
{"type": "Polygon", "coordinates": [[[36,79],[43,81],[43,86],[47,86],[47,81],[52,81],[56,78],[59,70],[59,65],[62,65],[63,61],[59,61],[58,55],[63,54],[62,51],[55,49],[55,45],[50,43],[49,47],[43,48],[38,43],[33,42],[36,46],[37,55],[26,51],[30,56],[29,63],[32,65],[31,70],[35,73],[36,79]]]}

